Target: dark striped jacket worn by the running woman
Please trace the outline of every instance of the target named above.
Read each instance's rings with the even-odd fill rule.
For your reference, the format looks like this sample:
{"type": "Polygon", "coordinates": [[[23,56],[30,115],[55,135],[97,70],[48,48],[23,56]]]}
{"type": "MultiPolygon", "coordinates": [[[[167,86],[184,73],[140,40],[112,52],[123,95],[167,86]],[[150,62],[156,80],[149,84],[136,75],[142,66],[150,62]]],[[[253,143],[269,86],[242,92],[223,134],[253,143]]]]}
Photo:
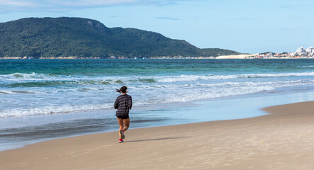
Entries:
{"type": "Polygon", "coordinates": [[[128,94],[118,96],[114,107],[118,109],[116,115],[128,114],[132,109],[132,97],[128,94]]]}

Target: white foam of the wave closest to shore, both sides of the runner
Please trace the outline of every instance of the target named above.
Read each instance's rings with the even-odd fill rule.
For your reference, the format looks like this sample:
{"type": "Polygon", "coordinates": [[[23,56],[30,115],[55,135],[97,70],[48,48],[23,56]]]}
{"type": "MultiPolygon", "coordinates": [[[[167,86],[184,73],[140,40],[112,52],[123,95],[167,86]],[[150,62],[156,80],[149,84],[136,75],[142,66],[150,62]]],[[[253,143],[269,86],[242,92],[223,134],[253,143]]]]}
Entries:
{"type": "MultiPolygon", "coordinates": [[[[303,86],[303,85],[313,85],[314,80],[292,80],[292,81],[264,81],[264,82],[220,82],[220,83],[185,83],[185,84],[142,84],[138,86],[132,86],[130,88],[131,95],[135,99],[134,106],[150,105],[158,103],[173,103],[173,102],[188,102],[196,101],[201,99],[210,98],[221,98],[228,96],[238,96],[260,93],[262,91],[274,91],[277,88],[288,87],[288,86],[303,86]],[[143,91],[145,89],[145,91],[143,91]],[[136,91],[142,91],[141,93],[136,93],[136,91]],[[147,98],[147,96],[150,96],[147,98]]],[[[45,106],[40,106],[40,103],[33,108],[6,108],[0,111],[0,117],[12,117],[12,116],[26,116],[26,115],[47,115],[52,113],[67,113],[76,111],[91,111],[99,109],[112,108],[112,101],[106,101],[106,98],[115,98],[117,94],[105,93],[106,95],[99,95],[100,89],[66,89],[65,91],[55,91],[51,98],[54,97],[55,100],[62,100],[63,95],[71,96],[67,97],[66,100],[74,101],[72,105],[52,105],[49,106],[49,102],[52,99],[47,99],[48,101],[43,101],[45,106]],[[86,93],[88,91],[88,93],[86,93]],[[77,94],[79,93],[79,94],[77,94]],[[82,94],[84,93],[84,94],[82,94]],[[84,104],[88,101],[82,98],[82,96],[87,95],[86,98],[93,101],[98,101],[96,103],[84,104]],[[79,99],[80,98],[80,99],[79,99]],[[77,101],[77,99],[79,99],[77,101]],[[106,103],[107,102],[107,103],[106,103]],[[81,103],[82,105],[79,105],[81,103]],[[47,106],[46,106],[47,105],[47,106]]],[[[106,89],[105,91],[110,91],[106,89]]],[[[11,93],[10,91],[4,91],[6,93],[11,93]]],[[[40,94],[38,94],[40,95],[40,94]]],[[[6,96],[6,95],[4,95],[6,96]]],[[[26,96],[27,97],[27,96],[26,96]]],[[[26,98],[27,99],[27,98],[26,98]]],[[[35,101],[30,101],[35,102],[35,101]]],[[[38,102],[41,102],[38,100],[38,102]]],[[[69,101],[68,101],[69,102],[69,101]]]]}

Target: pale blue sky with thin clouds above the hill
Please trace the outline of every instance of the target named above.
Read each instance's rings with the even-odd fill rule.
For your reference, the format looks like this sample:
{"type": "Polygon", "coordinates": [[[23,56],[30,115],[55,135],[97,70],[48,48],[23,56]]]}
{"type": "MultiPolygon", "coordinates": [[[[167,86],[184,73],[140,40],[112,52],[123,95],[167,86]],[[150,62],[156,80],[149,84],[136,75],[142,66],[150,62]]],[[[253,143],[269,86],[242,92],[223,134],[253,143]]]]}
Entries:
{"type": "Polygon", "coordinates": [[[138,28],[196,47],[294,52],[314,46],[312,0],[0,0],[0,22],[82,17],[138,28]]]}

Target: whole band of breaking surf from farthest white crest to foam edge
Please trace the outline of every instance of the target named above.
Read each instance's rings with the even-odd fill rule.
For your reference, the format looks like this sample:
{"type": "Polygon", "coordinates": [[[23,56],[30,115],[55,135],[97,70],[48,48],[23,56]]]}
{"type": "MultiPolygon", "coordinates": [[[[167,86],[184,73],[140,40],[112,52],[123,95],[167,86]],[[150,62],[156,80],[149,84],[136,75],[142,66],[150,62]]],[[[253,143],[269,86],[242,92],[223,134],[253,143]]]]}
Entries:
{"type": "Polygon", "coordinates": [[[0,91],[1,99],[7,102],[1,108],[0,117],[112,108],[112,100],[117,96],[115,88],[125,84],[130,88],[135,106],[247,95],[314,84],[314,72],[161,75],[0,75],[0,84],[6,84],[0,91]]]}

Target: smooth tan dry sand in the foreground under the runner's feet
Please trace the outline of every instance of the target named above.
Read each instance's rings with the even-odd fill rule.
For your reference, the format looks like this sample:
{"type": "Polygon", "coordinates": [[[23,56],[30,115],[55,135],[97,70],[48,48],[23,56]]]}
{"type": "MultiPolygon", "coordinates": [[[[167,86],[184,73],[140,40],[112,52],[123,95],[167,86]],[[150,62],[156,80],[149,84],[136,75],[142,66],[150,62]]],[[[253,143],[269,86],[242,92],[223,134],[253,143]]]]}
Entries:
{"type": "Polygon", "coordinates": [[[314,101],[271,114],[68,137],[0,152],[0,169],[314,169],[314,101]]]}

